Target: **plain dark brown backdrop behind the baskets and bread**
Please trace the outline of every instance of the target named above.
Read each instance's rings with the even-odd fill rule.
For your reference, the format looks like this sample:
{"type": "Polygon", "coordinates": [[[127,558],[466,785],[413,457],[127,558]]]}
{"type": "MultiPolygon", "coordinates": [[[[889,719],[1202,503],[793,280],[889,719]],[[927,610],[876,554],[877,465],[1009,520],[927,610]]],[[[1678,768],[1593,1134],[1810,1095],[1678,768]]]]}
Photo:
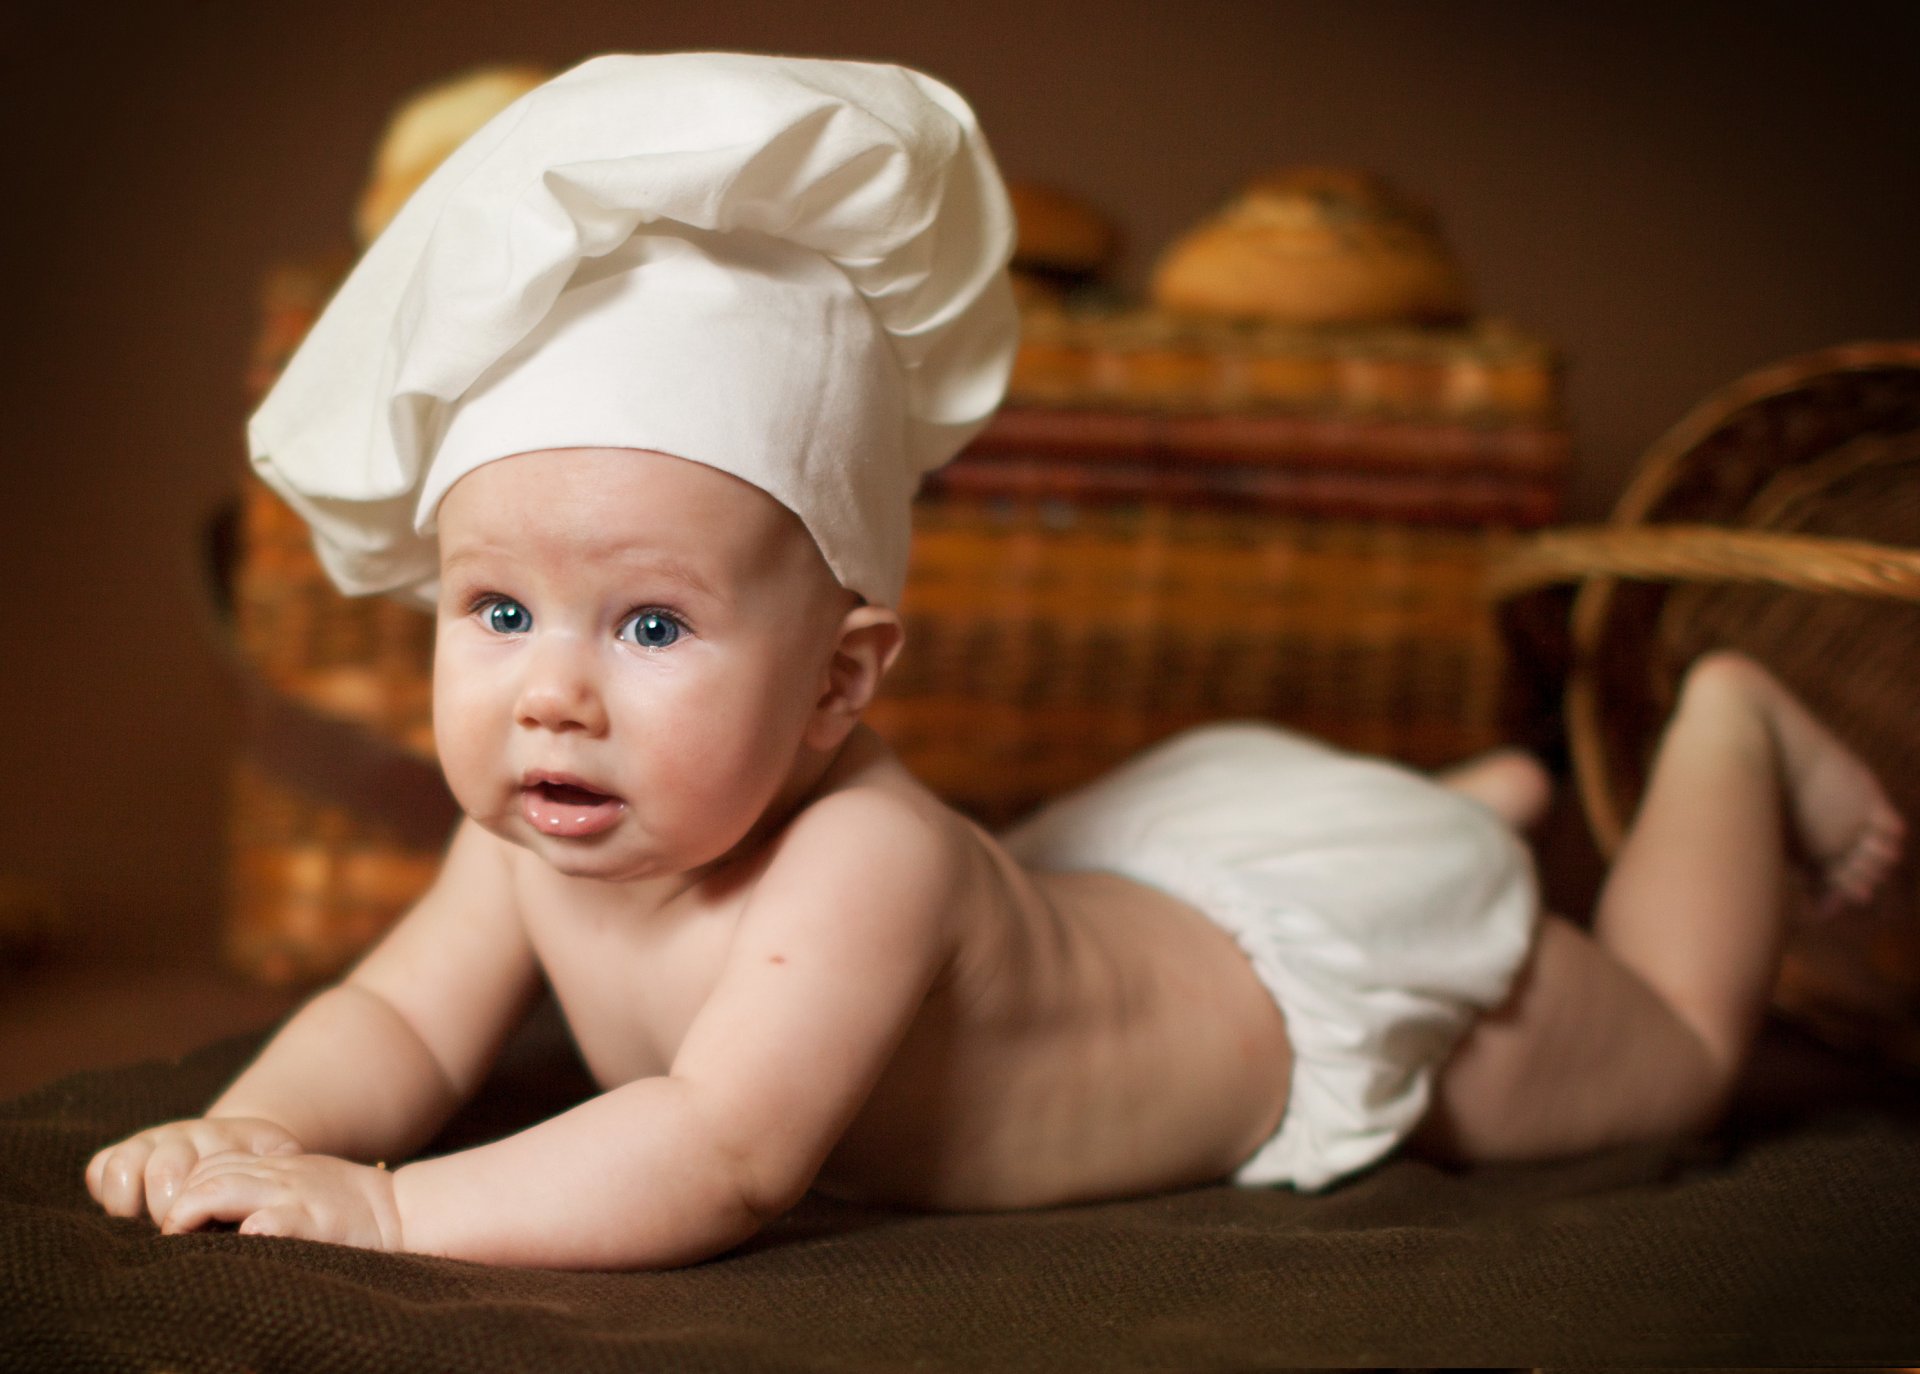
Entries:
{"type": "Polygon", "coordinates": [[[1131,282],[1248,171],[1377,167],[1438,205],[1486,309],[1565,347],[1597,516],[1709,388],[1920,332],[1920,8],[1559,10],[8,6],[0,875],[58,883],[88,948],[211,948],[236,722],[196,533],[240,474],[255,282],[346,242],[411,88],[605,50],[904,61],[1010,175],[1106,205],[1131,282]]]}

